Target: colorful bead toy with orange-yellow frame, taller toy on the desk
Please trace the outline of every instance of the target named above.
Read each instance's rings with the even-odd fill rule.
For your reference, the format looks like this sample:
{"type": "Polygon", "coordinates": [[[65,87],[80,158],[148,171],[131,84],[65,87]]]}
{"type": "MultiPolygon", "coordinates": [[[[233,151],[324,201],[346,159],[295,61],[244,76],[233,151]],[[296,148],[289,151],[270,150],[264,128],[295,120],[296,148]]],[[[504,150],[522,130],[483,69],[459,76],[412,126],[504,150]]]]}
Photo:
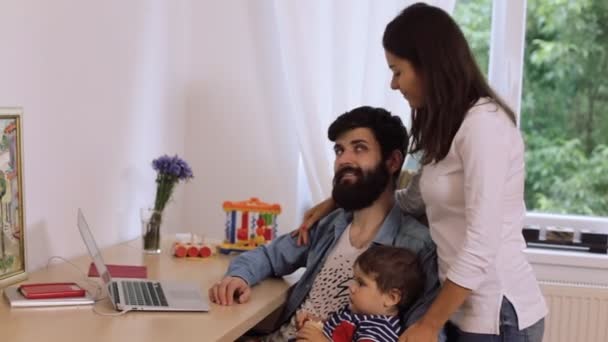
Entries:
{"type": "Polygon", "coordinates": [[[252,197],[247,201],[222,205],[226,212],[226,237],[220,253],[243,252],[272,241],[277,235],[277,216],[281,206],[252,197]]]}

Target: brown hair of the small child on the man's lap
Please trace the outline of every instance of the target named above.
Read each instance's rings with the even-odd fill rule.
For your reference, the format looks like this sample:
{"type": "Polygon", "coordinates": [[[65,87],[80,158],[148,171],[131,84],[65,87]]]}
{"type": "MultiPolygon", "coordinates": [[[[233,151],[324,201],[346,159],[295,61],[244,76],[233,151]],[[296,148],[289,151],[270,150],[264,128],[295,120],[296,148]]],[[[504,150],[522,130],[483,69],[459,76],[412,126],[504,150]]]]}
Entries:
{"type": "Polygon", "coordinates": [[[388,293],[397,289],[400,312],[407,310],[424,291],[425,276],[414,253],[394,246],[373,245],[355,260],[355,266],[374,278],[378,289],[388,293]]]}

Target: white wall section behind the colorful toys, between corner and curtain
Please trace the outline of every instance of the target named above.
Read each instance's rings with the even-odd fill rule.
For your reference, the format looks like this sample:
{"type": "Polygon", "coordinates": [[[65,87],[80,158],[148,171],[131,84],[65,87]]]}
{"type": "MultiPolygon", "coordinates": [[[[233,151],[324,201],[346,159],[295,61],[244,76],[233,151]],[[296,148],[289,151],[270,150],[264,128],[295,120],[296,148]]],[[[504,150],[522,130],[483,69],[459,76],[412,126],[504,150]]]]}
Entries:
{"type": "Polygon", "coordinates": [[[271,11],[270,1],[192,2],[186,155],[196,178],[184,230],[222,238],[222,202],[249,197],[281,204],[280,232],[301,217],[295,130],[277,115],[286,112],[285,94],[270,76],[280,64],[263,20],[271,11]]]}

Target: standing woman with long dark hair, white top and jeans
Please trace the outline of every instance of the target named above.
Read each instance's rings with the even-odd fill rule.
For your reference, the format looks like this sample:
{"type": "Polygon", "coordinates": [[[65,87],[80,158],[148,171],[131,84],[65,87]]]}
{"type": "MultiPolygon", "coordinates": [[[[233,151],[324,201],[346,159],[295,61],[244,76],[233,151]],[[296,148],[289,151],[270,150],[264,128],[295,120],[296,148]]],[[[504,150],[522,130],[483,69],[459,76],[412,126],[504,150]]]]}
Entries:
{"type": "MultiPolygon", "coordinates": [[[[387,26],[391,88],[412,108],[412,147],[422,170],[397,193],[401,208],[426,213],[442,290],[400,341],[541,342],[546,305],[527,262],[521,229],[524,144],[514,112],[495,94],[454,20],[425,4],[387,26]]],[[[314,208],[300,233],[333,208],[314,208]]]]}

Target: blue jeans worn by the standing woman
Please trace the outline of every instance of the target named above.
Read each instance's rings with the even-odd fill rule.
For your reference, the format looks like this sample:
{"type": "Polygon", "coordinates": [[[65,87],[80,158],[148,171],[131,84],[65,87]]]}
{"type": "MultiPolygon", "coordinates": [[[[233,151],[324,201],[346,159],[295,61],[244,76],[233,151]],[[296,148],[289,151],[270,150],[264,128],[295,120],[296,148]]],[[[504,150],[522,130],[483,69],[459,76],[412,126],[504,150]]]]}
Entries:
{"type": "Polygon", "coordinates": [[[446,326],[446,331],[448,342],[542,342],[545,319],[524,330],[519,330],[515,308],[506,297],[503,297],[500,307],[500,335],[464,332],[450,322],[446,326]]]}

